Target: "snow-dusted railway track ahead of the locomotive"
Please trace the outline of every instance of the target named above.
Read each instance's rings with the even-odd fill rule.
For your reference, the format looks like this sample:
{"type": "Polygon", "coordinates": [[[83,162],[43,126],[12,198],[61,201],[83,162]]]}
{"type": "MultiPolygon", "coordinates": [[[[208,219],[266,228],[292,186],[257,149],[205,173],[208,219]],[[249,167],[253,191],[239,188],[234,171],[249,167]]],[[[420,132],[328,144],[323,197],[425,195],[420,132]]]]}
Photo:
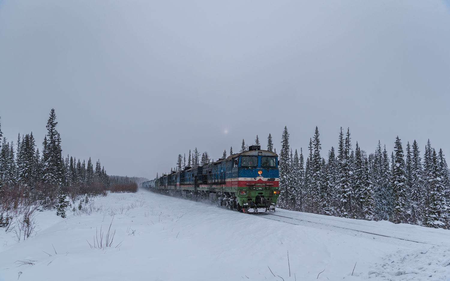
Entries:
{"type": "MultiPolygon", "coordinates": [[[[378,237],[383,237],[384,239],[382,239],[382,240],[385,240],[385,241],[387,240],[387,242],[392,242],[392,239],[397,239],[397,240],[402,240],[402,241],[407,241],[407,242],[414,242],[414,243],[427,244],[427,245],[436,245],[436,244],[424,242],[424,241],[415,241],[415,240],[405,239],[405,238],[401,238],[401,237],[388,236],[388,235],[367,232],[367,231],[353,229],[353,228],[339,227],[339,226],[334,226],[334,225],[331,225],[328,223],[312,222],[312,221],[308,221],[305,219],[296,219],[296,218],[281,216],[278,214],[263,213],[263,214],[255,214],[255,215],[258,215],[264,219],[276,220],[276,221],[283,222],[283,223],[290,223],[290,224],[294,224],[294,225],[301,225],[301,226],[306,226],[306,227],[314,227],[314,228],[320,228],[320,229],[325,229],[325,230],[338,231],[338,232],[346,233],[346,234],[353,234],[351,232],[358,232],[358,233],[360,233],[360,236],[365,237],[365,238],[371,238],[370,236],[375,235],[378,237]],[[317,227],[317,226],[322,226],[322,227],[317,227]],[[390,239],[390,238],[392,238],[392,239],[390,239]],[[389,240],[391,240],[391,241],[389,241],[389,240]]],[[[357,234],[355,234],[355,235],[357,235],[357,234]]],[[[375,239],[375,237],[372,237],[372,238],[375,239]]],[[[408,243],[408,244],[410,244],[410,243],[408,243]]]]}

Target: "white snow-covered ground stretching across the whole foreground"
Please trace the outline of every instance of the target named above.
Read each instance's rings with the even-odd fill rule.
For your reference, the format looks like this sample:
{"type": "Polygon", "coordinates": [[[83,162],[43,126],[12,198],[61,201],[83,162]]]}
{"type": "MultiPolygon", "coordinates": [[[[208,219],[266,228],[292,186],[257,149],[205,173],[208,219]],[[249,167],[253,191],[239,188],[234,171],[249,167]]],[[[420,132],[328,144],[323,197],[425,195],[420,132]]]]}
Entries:
{"type": "Polygon", "coordinates": [[[67,219],[38,213],[39,231],[25,241],[0,230],[0,280],[450,280],[442,229],[279,209],[242,214],[145,190],[85,208],[93,212],[67,219]],[[104,244],[110,224],[111,247],[91,248],[100,227],[104,244]],[[21,265],[27,260],[34,265],[21,265]]]}

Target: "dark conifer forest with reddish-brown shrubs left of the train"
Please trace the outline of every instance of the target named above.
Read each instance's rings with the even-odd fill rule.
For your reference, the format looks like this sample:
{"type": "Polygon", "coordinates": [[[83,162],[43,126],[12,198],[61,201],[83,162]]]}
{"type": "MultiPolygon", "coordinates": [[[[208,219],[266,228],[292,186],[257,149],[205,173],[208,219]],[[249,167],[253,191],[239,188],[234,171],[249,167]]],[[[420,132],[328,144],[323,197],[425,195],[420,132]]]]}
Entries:
{"type": "Polygon", "coordinates": [[[81,202],[90,197],[137,191],[140,178],[110,176],[99,160],[94,163],[89,158],[86,163],[64,157],[57,125],[52,109],[42,151],[36,148],[32,132],[18,134],[14,143],[3,137],[0,127],[0,227],[9,230],[24,222],[30,226],[36,210],[56,209],[64,218],[67,211],[81,210],[81,202]]]}

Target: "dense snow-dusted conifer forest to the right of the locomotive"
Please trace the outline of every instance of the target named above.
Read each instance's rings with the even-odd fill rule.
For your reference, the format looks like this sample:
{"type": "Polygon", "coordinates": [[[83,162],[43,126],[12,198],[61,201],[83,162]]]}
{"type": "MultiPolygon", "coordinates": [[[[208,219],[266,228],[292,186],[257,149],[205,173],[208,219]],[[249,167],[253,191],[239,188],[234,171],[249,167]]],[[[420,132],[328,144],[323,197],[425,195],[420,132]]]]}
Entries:
{"type": "Polygon", "coordinates": [[[373,152],[365,152],[358,142],[353,146],[350,129],[341,128],[337,149],[331,147],[323,156],[319,136],[316,127],[304,156],[302,149],[298,153],[289,146],[284,128],[279,207],[450,228],[449,170],[442,150],[433,148],[429,140],[423,153],[415,140],[405,145],[399,137],[391,153],[379,142],[373,152]]]}

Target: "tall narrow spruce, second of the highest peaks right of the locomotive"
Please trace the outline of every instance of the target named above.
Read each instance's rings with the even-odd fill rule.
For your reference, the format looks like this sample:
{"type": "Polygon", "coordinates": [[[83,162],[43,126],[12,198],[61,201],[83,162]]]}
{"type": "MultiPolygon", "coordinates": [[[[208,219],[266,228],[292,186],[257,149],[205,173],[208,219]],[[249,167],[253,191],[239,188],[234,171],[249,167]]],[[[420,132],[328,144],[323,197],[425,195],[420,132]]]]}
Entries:
{"type": "Polygon", "coordinates": [[[324,201],[323,192],[323,174],[322,174],[322,157],[320,156],[320,140],[319,140],[319,129],[315,127],[314,138],[312,141],[314,147],[314,153],[312,155],[311,161],[311,193],[312,193],[312,209],[313,213],[320,214],[321,203],[324,201]]]}

